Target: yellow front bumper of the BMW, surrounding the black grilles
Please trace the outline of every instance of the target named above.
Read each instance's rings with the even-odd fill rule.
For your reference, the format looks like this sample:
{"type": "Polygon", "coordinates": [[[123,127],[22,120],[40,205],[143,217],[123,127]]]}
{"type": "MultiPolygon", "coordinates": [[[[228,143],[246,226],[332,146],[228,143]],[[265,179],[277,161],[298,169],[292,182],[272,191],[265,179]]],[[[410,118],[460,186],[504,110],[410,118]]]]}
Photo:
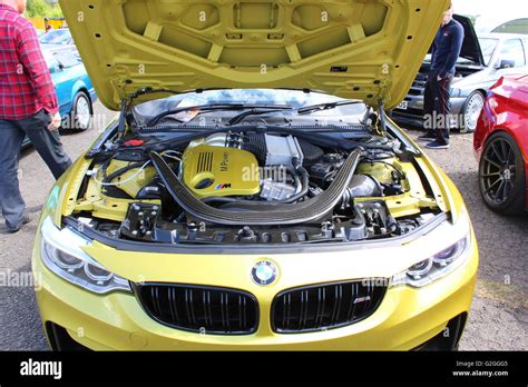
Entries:
{"type": "Polygon", "coordinates": [[[450,321],[468,314],[478,267],[475,235],[471,238],[468,259],[448,276],[423,288],[389,288],[378,310],[365,320],[310,334],[272,330],[271,304],[280,290],[264,287],[246,289],[257,297],[261,309],[258,330],[253,335],[201,335],[163,326],[145,314],[131,294],[95,295],[57,277],[40,259],[39,240],[33,251],[33,272],[40,279],[36,295],[52,344],[62,331],[71,343],[96,350],[409,350],[430,343],[450,321]]]}

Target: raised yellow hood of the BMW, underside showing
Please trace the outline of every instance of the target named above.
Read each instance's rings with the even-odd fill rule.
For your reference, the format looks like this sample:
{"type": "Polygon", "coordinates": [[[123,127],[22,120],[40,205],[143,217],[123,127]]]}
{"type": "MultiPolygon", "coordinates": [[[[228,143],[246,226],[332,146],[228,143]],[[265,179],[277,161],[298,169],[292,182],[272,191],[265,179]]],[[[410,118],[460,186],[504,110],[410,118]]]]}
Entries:
{"type": "Polygon", "coordinates": [[[113,110],[143,88],[312,89],[394,108],[448,2],[60,0],[113,110]]]}

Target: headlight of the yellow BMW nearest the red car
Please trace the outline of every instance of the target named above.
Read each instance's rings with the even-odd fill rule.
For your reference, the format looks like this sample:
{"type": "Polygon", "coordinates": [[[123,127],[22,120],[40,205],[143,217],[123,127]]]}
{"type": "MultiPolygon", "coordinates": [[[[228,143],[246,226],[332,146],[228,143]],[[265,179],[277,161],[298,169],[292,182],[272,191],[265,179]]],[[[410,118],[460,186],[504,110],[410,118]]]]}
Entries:
{"type": "Polygon", "coordinates": [[[466,224],[461,225],[461,230],[463,230],[462,235],[465,235],[462,239],[434,254],[432,257],[411,266],[405,271],[395,275],[392,278],[391,285],[422,287],[447,276],[460,267],[467,260],[471,251],[471,231],[466,214],[461,215],[459,222],[466,224]]]}

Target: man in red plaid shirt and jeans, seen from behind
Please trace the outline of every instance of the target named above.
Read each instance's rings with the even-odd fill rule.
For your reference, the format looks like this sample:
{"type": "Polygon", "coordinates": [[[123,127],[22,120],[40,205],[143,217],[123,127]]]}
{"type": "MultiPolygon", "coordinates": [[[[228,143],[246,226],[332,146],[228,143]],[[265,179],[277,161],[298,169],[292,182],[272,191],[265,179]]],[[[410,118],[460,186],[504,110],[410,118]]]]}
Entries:
{"type": "Polygon", "coordinates": [[[58,179],[71,165],[62,149],[53,82],[37,31],[21,13],[26,0],[0,0],[0,210],[9,232],[29,222],[18,162],[23,138],[58,179]]]}

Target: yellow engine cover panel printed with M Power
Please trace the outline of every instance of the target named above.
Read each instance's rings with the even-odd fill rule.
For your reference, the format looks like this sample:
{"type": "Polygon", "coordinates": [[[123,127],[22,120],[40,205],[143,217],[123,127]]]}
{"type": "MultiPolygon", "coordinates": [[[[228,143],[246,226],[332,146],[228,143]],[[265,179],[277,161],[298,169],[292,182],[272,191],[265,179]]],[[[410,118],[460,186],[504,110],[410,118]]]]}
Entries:
{"type": "Polygon", "coordinates": [[[258,162],[245,150],[192,143],[182,163],[184,183],[198,198],[261,191],[258,162]]]}

